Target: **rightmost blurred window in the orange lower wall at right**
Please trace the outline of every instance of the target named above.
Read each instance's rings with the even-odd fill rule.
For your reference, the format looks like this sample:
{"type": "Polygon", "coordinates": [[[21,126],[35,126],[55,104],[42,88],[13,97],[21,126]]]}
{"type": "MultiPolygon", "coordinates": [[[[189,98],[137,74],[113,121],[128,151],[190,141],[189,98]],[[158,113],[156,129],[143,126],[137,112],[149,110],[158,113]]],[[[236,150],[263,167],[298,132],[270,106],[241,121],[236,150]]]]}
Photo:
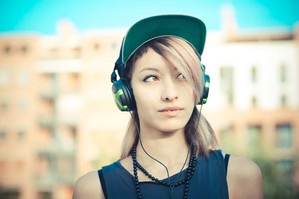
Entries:
{"type": "Polygon", "coordinates": [[[276,126],[276,146],[278,148],[291,148],[293,146],[290,124],[276,126]]]}

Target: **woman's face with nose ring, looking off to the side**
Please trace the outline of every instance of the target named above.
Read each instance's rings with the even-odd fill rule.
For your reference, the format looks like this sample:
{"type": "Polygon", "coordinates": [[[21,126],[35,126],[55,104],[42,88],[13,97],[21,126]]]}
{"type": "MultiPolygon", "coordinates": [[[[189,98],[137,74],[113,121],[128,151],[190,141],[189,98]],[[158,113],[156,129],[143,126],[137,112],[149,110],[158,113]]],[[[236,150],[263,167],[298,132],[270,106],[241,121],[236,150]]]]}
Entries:
{"type": "Polygon", "coordinates": [[[142,126],[164,132],[184,128],[194,108],[193,90],[184,76],[151,48],[135,63],[131,86],[142,126]]]}

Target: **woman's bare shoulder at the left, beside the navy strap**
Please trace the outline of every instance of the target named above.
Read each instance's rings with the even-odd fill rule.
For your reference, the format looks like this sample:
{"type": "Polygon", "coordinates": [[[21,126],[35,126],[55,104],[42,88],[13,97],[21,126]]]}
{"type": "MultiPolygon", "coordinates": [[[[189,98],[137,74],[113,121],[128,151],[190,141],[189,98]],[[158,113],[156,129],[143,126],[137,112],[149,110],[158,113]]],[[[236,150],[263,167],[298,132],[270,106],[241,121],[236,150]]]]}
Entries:
{"type": "Polygon", "coordinates": [[[105,199],[98,171],[91,171],[76,181],[72,199],[105,199]]]}

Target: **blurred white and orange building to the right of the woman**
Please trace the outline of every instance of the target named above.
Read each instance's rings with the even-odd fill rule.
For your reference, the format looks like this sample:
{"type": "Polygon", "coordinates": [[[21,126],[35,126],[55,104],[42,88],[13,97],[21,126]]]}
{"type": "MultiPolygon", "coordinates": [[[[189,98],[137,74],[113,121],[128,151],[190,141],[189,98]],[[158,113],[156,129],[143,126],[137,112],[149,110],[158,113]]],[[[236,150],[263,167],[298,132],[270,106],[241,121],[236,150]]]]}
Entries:
{"type": "Polygon", "coordinates": [[[202,62],[211,83],[203,111],[220,143],[229,134],[238,153],[264,148],[284,170],[298,168],[299,23],[293,31],[244,32],[229,16],[223,32],[207,36],[202,62]]]}

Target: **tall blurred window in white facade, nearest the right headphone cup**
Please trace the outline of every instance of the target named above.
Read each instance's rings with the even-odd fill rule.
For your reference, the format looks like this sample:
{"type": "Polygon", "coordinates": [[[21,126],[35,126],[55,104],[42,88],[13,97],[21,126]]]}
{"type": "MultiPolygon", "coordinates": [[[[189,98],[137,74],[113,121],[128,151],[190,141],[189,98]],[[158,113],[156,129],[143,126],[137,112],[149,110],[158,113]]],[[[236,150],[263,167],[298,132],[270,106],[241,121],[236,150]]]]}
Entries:
{"type": "Polygon", "coordinates": [[[234,68],[220,68],[220,90],[225,104],[234,104],[234,68]]]}

